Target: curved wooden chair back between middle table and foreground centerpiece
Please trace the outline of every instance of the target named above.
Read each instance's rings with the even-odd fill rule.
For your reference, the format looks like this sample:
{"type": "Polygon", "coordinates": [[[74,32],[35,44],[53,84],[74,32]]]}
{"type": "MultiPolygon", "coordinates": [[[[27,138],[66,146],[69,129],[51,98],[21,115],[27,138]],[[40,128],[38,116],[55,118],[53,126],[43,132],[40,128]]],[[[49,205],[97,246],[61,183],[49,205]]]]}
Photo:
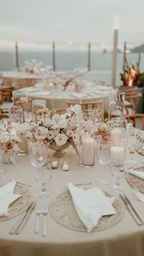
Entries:
{"type": "Polygon", "coordinates": [[[74,106],[76,104],[80,104],[82,109],[89,109],[89,108],[101,108],[103,109],[103,100],[97,101],[66,101],[68,107],[74,106]]]}

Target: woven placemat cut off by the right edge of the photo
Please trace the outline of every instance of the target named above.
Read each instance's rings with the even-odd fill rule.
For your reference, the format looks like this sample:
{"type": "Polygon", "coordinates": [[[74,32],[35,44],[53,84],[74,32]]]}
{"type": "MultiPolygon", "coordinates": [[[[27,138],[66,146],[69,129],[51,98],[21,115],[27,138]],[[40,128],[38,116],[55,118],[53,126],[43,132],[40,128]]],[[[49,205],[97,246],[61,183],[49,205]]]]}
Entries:
{"type": "MultiPolygon", "coordinates": [[[[141,170],[144,172],[144,166],[135,168],[134,170],[141,170]]],[[[144,193],[144,180],[142,178],[128,173],[126,179],[132,187],[137,188],[140,192],[144,193]]]]}

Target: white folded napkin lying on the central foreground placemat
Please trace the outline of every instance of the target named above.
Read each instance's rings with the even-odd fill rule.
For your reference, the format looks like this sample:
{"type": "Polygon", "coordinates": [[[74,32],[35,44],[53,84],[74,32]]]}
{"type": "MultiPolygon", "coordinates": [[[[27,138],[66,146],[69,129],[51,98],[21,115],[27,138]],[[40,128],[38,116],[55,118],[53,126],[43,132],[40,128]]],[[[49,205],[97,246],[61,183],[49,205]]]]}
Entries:
{"type": "Polygon", "coordinates": [[[116,213],[112,207],[115,198],[106,197],[98,187],[84,190],[68,183],[68,189],[77,214],[88,232],[91,232],[96,227],[102,216],[116,213]]]}

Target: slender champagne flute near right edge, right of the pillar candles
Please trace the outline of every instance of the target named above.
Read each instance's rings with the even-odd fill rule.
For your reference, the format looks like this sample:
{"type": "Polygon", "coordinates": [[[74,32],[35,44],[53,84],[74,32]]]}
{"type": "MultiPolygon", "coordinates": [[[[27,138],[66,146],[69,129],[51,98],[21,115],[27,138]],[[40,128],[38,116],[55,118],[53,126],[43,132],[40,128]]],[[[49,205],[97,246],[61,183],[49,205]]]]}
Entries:
{"type": "Polygon", "coordinates": [[[129,148],[129,152],[131,153],[131,159],[126,161],[126,166],[127,167],[132,167],[137,164],[137,161],[133,159],[134,152],[135,152],[135,147],[137,144],[139,144],[140,141],[140,129],[139,128],[134,128],[130,127],[127,132],[127,146],[129,148]]]}

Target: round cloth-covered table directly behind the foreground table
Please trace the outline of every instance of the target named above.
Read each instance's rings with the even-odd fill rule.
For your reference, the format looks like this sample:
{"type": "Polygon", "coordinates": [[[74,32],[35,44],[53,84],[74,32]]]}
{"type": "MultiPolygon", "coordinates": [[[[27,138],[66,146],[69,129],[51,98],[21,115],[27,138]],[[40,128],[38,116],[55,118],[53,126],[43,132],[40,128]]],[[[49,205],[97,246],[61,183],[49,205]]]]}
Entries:
{"type": "MultiPolygon", "coordinates": [[[[109,103],[109,94],[114,90],[111,86],[100,86],[94,82],[86,83],[81,91],[74,89],[63,90],[60,88],[51,89],[51,87],[43,86],[43,82],[35,84],[34,87],[26,87],[21,90],[27,92],[28,100],[46,100],[46,107],[49,109],[65,109],[68,107],[67,101],[77,103],[103,100],[103,108],[107,109],[109,103]]],[[[32,109],[32,106],[29,106],[32,109]]]]}

